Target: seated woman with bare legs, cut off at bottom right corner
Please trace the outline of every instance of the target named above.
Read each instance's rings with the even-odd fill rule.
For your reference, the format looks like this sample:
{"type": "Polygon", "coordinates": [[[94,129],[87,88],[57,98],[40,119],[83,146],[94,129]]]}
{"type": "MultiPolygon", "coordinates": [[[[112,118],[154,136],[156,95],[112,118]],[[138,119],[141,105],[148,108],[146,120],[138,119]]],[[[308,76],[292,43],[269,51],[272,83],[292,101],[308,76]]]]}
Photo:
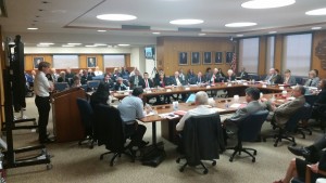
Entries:
{"type": "MultiPolygon", "coordinates": [[[[285,178],[279,181],[275,181],[274,183],[289,183],[292,178],[298,178],[299,180],[305,182],[306,165],[309,165],[308,161],[300,158],[293,158],[290,161],[285,178]]],[[[326,152],[324,152],[318,162],[311,165],[310,169],[312,171],[311,182],[316,182],[317,178],[325,178],[325,175],[319,174],[319,171],[326,170],[326,152]]]]}

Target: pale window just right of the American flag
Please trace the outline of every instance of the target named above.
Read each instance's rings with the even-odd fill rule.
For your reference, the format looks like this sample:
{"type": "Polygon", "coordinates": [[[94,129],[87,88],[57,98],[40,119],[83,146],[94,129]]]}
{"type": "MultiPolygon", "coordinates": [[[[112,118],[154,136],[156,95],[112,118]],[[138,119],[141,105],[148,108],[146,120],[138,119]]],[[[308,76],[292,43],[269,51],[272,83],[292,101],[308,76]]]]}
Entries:
{"type": "Polygon", "coordinates": [[[239,69],[246,68],[248,73],[258,73],[259,38],[241,39],[239,47],[239,69]]]}

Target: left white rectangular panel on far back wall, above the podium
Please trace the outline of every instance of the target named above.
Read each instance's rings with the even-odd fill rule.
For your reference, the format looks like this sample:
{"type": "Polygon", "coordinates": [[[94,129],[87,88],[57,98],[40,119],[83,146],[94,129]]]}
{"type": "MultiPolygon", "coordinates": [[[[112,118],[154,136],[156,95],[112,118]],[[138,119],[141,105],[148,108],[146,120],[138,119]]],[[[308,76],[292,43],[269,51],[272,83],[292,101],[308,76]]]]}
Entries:
{"type": "Polygon", "coordinates": [[[78,55],[53,55],[54,68],[79,68],[78,55]]]}

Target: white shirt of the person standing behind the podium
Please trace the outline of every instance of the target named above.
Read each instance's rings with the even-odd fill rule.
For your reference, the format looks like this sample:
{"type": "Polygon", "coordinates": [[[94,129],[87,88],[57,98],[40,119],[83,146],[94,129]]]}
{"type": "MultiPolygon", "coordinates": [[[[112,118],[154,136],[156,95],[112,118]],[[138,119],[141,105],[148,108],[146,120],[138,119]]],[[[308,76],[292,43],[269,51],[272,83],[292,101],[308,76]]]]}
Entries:
{"type": "Polygon", "coordinates": [[[50,96],[50,82],[43,71],[38,71],[34,80],[34,92],[38,96],[50,96]]]}

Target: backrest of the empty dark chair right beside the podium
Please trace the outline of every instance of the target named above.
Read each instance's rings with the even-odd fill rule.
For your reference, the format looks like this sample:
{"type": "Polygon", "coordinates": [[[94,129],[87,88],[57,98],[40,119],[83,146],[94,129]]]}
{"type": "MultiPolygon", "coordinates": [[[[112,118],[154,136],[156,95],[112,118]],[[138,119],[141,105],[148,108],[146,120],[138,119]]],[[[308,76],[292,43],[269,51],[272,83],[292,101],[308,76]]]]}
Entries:
{"type": "Polygon", "coordinates": [[[77,97],[76,99],[77,106],[79,109],[79,114],[82,117],[82,122],[85,128],[92,128],[92,117],[93,117],[93,112],[90,106],[90,104],[85,100],[77,97]]]}

